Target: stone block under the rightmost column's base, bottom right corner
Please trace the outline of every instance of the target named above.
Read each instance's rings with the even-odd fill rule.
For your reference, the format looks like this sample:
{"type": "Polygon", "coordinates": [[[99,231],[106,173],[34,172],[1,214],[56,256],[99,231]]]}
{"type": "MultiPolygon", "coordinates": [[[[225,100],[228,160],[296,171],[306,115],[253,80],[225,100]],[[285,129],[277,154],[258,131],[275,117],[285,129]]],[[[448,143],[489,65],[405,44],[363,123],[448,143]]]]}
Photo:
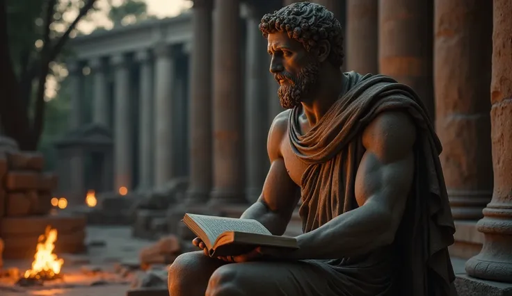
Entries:
{"type": "Polygon", "coordinates": [[[458,296],[512,296],[512,283],[474,279],[458,274],[455,279],[458,296]]]}

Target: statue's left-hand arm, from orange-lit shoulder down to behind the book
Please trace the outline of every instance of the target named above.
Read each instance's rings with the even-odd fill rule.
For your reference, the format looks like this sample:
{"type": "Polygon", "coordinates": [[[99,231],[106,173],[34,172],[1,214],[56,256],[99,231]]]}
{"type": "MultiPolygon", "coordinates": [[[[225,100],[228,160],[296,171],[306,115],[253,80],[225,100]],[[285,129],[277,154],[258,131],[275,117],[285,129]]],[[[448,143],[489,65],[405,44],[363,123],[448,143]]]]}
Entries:
{"type": "Polygon", "coordinates": [[[299,198],[298,186],[291,180],[280,152],[281,142],[287,135],[287,118],[285,111],[275,117],[272,123],[267,140],[271,167],[266,175],[262,194],[241,215],[241,218],[259,221],[278,236],[285,233],[299,198]]]}

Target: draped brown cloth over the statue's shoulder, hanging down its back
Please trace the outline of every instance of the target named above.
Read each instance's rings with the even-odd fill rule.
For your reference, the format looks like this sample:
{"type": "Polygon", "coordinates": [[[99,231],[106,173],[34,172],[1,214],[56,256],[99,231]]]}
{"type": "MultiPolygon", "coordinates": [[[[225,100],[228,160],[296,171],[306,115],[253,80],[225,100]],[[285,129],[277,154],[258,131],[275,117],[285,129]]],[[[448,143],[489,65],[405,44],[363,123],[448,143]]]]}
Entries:
{"type": "Polygon", "coordinates": [[[439,160],[442,147],[424,104],[410,87],[388,76],[344,75],[345,94],[305,135],[298,121],[302,106],[289,116],[291,149],[308,165],[301,179],[303,231],[358,207],[354,187],[365,153],[362,131],[380,113],[408,113],[417,127],[417,140],[413,189],[394,241],[401,254],[400,295],[456,295],[447,251],[455,227],[439,160]]]}

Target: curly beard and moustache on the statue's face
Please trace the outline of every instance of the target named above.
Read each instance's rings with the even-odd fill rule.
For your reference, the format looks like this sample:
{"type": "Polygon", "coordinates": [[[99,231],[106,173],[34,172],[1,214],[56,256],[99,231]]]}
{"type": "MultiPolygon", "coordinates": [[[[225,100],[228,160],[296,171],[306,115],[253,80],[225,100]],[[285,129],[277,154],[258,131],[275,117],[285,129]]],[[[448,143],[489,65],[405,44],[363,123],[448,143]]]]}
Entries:
{"type": "Polygon", "coordinates": [[[289,85],[281,84],[278,90],[279,101],[282,108],[291,109],[303,101],[305,94],[317,83],[319,75],[319,63],[310,62],[297,76],[291,76],[287,72],[275,74],[275,79],[287,79],[289,85]]]}

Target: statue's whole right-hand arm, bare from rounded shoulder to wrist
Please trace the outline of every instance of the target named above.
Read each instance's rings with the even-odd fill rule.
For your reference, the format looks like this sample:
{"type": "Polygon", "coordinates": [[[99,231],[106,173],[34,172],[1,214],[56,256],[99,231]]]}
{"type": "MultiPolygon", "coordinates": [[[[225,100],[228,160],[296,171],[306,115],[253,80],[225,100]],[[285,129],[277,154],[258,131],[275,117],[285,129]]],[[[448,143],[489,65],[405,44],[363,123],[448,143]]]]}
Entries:
{"type": "Polygon", "coordinates": [[[297,258],[354,256],[393,242],[413,183],[415,138],[406,113],[382,113],[367,126],[355,178],[360,206],[298,236],[297,258]]]}

